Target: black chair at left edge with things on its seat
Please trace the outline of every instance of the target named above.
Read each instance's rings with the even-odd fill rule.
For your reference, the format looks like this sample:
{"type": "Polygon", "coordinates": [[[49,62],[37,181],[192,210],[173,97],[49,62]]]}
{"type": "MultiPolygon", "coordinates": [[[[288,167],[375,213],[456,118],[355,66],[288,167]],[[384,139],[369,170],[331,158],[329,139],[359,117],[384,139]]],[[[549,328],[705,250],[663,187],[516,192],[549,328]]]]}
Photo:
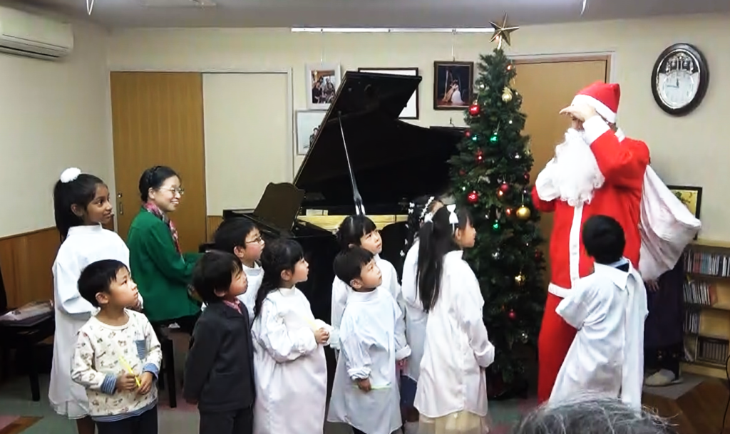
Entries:
{"type": "MultiPolygon", "coordinates": [[[[0,316],[17,308],[7,306],[7,292],[2,279],[0,268],[0,316]]],[[[28,379],[31,381],[31,396],[34,401],[41,400],[40,384],[38,379],[37,344],[50,338],[55,333],[54,311],[39,317],[10,324],[0,322],[0,349],[2,357],[2,378],[9,376],[10,350],[23,352],[28,360],[28,379]]]]}

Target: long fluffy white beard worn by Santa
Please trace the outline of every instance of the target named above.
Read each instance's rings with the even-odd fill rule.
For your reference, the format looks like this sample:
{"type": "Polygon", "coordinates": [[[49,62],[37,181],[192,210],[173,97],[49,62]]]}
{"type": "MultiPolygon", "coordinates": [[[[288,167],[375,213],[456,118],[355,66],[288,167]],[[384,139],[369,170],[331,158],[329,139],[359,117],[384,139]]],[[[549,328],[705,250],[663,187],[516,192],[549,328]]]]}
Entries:
{"type": "Polygon", "coordinates": [[[584,131],[569,128],[565,142],[555,148],[556,166],[553,170],[553,187],[560,198],[570,206],[590,203],[593,191],[602,187],[604,177],[596,163],[591,145],[584,131]]]}

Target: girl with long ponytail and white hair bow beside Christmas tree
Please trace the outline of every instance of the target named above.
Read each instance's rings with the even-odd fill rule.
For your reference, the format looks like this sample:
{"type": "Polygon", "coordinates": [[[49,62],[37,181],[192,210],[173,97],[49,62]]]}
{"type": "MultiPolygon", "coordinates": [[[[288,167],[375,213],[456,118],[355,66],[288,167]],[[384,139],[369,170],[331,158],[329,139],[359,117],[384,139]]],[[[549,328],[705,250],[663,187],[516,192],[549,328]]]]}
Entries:
{"type": "Polygon", "coordinates": [[[415,408],[418,432],[487,432],[485,368],[494,346],[483,322],[484,299],[463,249],[474,247],[476,231],[466,209],[442,207],[418,234],[416,282],[429,315],[420,362],[415,408]]]}

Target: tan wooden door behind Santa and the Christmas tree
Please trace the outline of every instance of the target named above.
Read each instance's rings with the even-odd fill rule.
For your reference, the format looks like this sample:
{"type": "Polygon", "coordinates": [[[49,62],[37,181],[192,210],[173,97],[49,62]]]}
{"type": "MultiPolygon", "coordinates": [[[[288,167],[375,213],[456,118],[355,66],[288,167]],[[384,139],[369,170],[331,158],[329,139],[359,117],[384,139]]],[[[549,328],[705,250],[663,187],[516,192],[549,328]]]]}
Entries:
{"type": "MultiPolygon", "coordinates": [[[[515,61],[517,77],[515,88],[522,94],[522,112],[527,115],[525,133],[530,136],[530,150],[534,166],[530,179],[537,174],[555,155],[556,144],[562,142],[570,125],[566,116],[558,112],[570,105],[575,93],[596,81],[606,82],[610,73],[608,56],[592,58],[553,58],[539,61],[515,61]]],[[[550,281],[550,260],[548,245],[553,229],[553,215],[542,214],[540,230],[545,237],[542,246],[548,270],[545,287],[550,281]]]]}

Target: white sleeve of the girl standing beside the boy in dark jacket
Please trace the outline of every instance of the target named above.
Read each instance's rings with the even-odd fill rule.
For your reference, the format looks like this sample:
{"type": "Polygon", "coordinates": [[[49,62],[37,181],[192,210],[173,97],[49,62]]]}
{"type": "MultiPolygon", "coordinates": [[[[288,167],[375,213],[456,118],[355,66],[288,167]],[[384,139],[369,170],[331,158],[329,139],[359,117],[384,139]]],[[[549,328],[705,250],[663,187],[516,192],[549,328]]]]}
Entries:
{"type": "Polygon", "coordinates": [[[318,348],[314,332],[310,328],[289,330],[272,301],[264,300],[259,315],[254,322],[255,338],[278,363],[291,362],[318,348]]]}

